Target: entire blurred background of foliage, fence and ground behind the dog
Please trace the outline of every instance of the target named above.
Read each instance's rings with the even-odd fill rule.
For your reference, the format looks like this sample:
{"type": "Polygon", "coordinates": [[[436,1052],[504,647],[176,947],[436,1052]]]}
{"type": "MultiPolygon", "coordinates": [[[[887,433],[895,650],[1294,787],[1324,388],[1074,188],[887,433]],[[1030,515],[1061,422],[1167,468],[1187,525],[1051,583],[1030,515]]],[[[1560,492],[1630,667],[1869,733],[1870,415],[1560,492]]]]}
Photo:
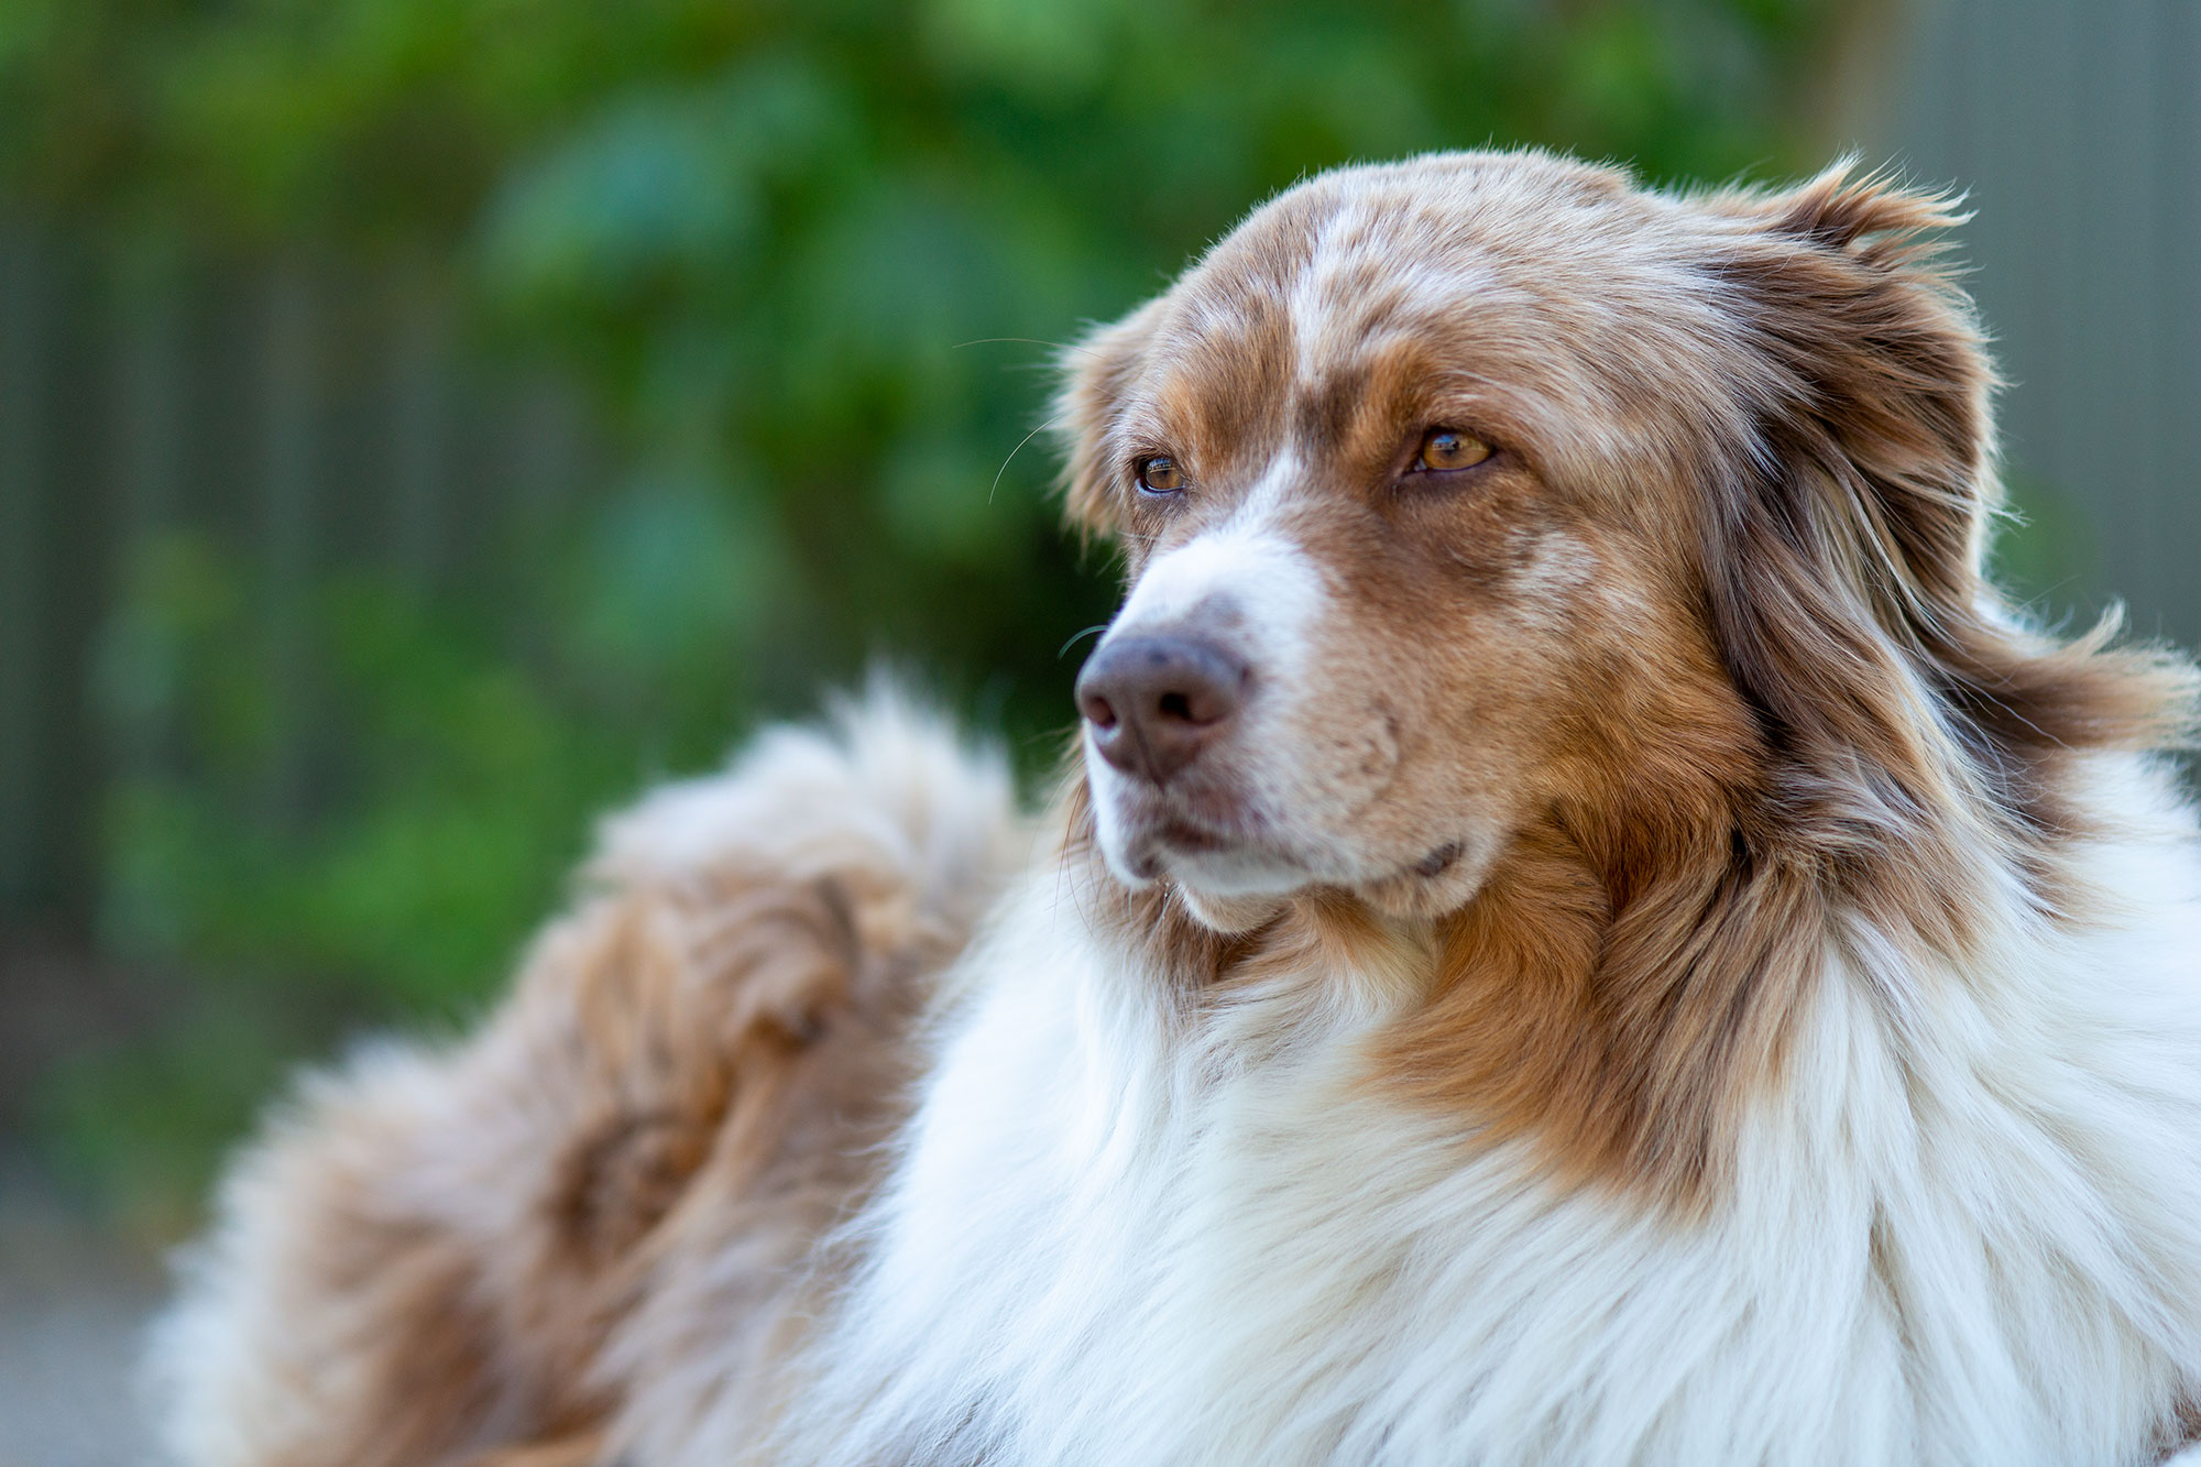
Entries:
{"type": "Polygon", "coordinates": [[[607,806],[876,656],[1050,762],[1052,344],[1483,143],[1968,189],[2007,577],[2201,639],[2194,0],[0,0],[0,1463],[607,806]]]}

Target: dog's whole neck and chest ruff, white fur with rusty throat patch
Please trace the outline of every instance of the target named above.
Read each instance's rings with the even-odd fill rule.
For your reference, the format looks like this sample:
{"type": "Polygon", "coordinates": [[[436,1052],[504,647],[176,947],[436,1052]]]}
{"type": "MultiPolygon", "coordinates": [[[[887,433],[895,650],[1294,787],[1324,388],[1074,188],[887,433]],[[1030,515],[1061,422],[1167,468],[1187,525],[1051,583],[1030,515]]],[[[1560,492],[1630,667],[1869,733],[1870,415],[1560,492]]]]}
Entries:
{"type": "Polygon", "coordinates": [[[1448,919],[1224,936],[1070,795],[854,1234],[817,1460],[2137,1460],[2201,1372],[2201,872],[2161,773],[2065,780],[2069,879],[2153,916],[2001,846],[1954,954],[1748,846],[1616,910],[1556,824],[1448,919]]]}

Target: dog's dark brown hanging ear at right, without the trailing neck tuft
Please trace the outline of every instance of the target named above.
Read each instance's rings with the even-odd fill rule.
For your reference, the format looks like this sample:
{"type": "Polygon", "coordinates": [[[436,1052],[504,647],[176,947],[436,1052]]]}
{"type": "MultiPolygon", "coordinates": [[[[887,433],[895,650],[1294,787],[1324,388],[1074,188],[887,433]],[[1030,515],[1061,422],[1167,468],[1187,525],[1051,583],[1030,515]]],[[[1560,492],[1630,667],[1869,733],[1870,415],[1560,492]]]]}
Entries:
{"type": "Polygon", "coordinates": [[[1816,771],[1930,782],[1915,667],[1979,617],[1996,498],[1994,377],[1970,300],[1935,267],[1948,200],[1838,163],[1785,192],[1701,200],[1704,269],[1741,352],[1704,520],[1706,593],[1737,687],[1816,771]]]}

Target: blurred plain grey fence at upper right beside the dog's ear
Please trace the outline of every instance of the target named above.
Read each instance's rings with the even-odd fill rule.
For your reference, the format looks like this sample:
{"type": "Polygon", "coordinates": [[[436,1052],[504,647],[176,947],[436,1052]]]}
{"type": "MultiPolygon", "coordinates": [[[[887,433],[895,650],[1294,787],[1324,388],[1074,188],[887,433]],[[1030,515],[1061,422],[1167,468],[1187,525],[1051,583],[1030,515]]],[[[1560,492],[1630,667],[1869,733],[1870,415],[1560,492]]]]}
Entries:
{"type": "Polygon", "coordinates": [[[2003,443],[2071,582],[2201,645],[2201,0],[1917,0],[1847,128],[1970,194],[2003,443]]]}

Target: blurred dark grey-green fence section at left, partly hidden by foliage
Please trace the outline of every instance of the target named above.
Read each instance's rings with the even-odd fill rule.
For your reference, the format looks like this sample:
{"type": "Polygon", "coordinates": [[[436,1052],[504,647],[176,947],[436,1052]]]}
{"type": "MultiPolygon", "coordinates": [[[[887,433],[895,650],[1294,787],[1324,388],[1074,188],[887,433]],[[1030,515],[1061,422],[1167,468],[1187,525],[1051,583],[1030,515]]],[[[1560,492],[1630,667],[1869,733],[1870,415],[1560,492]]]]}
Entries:
{"type": "Polygon", "coordinates": [[[99,258],[0,220],[0,930],[81,927],[101,780],[156,760],[97,716],[121,577],[154,537],[238,548],[273,659],[269,800],[317,738],[308,597],[436,586],[592,476],[574,394],[489,374],[429,271],[99,258]]]}

